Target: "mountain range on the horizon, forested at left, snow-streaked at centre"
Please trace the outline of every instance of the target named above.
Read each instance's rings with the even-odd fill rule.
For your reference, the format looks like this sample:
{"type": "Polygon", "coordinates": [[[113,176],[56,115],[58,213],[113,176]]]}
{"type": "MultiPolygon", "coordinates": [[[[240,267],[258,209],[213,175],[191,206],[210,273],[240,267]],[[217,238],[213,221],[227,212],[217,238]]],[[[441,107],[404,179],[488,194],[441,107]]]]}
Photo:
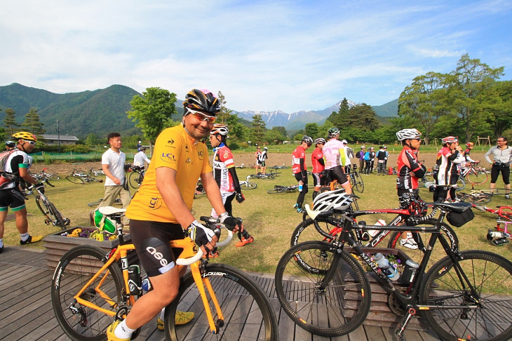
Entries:
{"type": "MultiPolygon", "coordinates": [[[[119,131],[122,135],[140,134],[135,123],[126,116],[126,112],[131,109],[130,100],[134,95],[141,94],[123,85],[112,85],[95,91],[58,94],[12,83],[0,86],[0,109],[3,110],[0,112],[0,120],[5,117],[4,110],[11,108],[16,113],[18,123],[22,123],[25,114],[34,107],[48,134],[57,133],[58,126],[63,135],[75,135],[81,139],[86,138],[89,133],[105,136],[111,131],[119,131]]],[[[233,112],[238,113],[238,117],[245,121],[252,121],[252,116],[260,114],[267,128],[284,126],[287,131],[297,131],[304,128],[306,123],[323,124],[332,112],[338,111],[340,103],[341,100],[325,109],[302,110],[291,114],[279,110],[238,112],[233,109],[233,112]]],[[[349,106],[352,105],[355,103],[349,101],[349,106]]],[[[176,107],[178,114],[173,117],[175,120],[180,119],[182,115],[182,100],[177,100],[176,107]]],[[[379,116],[396,116],[398,99],[375,106],[373,109],[379,116]]]]}

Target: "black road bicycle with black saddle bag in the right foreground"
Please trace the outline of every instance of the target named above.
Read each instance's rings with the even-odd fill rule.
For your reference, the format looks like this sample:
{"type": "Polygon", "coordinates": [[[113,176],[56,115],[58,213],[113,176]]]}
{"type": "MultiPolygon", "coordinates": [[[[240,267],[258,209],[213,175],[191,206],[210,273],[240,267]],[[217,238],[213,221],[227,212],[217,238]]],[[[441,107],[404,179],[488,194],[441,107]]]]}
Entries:
{"type": "MultiPolygon", "coordinates": [[[[275,275],[276,295],[286,314],[297,326],[323,336],[345,335],[361,326],[372,302],[362,263],[375,273],[379,285],[388,293],[391,311],[403,316],[396,330],[400,341],[405,340],[407,323],[420,311],[443,340],[509,340],[512,262],[483,250],[459,251],[457,243],[450,245],[440,232],[445,218],[455,226],[471,220],[470,203],[429,206],[440,210],[438,224],[433,226],[361,226],[354,219],[364,212],[338,212],[344,225],[336,242],[307,241],[290,248],[278,262],[275,275]],[[361,249],[354,240],[357,229],[431,234],[417,268],[404,269],[405,290],[396,286],[390,275],[386,276],[386,269],[379,269],[361,249]],[[446,256],[426,272],[437,241],[446,256]]],[[[322,213],[305,208],[313,220],[335,213],[335,209],[322,213]]]]}

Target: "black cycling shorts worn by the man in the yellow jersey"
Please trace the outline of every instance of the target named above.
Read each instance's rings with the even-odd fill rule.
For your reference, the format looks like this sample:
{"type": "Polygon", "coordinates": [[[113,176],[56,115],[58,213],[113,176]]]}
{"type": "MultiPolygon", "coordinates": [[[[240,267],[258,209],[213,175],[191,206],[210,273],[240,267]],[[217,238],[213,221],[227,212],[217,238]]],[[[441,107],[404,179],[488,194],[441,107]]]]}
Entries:
{"type": "Polygon", "coordinates": [[[130,237],[140,264],[149,277],[158,276],[175,267],[181,248],[171,248],[169,241],[184,239],[181,225],[170,222],[130,220],[130,237]]]}

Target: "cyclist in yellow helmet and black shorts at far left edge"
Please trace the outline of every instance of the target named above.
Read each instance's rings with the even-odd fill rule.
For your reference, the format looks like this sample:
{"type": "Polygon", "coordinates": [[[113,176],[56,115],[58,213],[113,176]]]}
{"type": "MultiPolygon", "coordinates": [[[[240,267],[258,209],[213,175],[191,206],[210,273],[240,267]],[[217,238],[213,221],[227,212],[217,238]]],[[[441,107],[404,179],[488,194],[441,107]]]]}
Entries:
{"type": "Polygon", "coordinates": [[[37,138],[34,134],[25,131],[13,134],[13,138],[17,141],[17,148],[4,152],[0,161],[0,253],[4,250],[4,223],[9,208],[16,216],[16,228],[20,232],[21,245],[36,243],[43,239],[43,236],[31,236],[28,232],[25,196],[20,190],[20,184],[25,185],[25,182],[38,185],[37,180],[32,178],[28,172],[28,153],[34,150],[37,138]]]}

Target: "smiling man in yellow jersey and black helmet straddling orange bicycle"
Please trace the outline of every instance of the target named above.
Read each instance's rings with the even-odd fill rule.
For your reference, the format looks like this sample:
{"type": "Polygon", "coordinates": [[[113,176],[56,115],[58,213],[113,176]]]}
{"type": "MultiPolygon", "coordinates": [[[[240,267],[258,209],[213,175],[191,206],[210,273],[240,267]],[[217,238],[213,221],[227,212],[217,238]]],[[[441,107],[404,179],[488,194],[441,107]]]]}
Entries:
{"type": "MultiPolygon", "coordinates": [[[[126,319],[114,321],[107,328],[108,340],[130,340],[134,330],[151,321],[175,299],[180,273],[175,267],[176,255],[169,246],[170,240],[183,239],[188,234],[204,253],[215,247],[217,236],[191,214],[198,178],[213,208],[220,213],[221,222],[227,227],[236,225],[222,204],[203,142],[220,112],[220,102],[208,90],[192,89],[185,96],[183,107],[182,124],[167,128],[156,139],[144,181],[126,210],[131,239],[153,290],[135,302],[126,319]]],[[[177,312],[175,323],[184,324],[192,319],[193,312],[177,312]]],[[[163,326],[161,319],[158,322],[163,326]]]]}

